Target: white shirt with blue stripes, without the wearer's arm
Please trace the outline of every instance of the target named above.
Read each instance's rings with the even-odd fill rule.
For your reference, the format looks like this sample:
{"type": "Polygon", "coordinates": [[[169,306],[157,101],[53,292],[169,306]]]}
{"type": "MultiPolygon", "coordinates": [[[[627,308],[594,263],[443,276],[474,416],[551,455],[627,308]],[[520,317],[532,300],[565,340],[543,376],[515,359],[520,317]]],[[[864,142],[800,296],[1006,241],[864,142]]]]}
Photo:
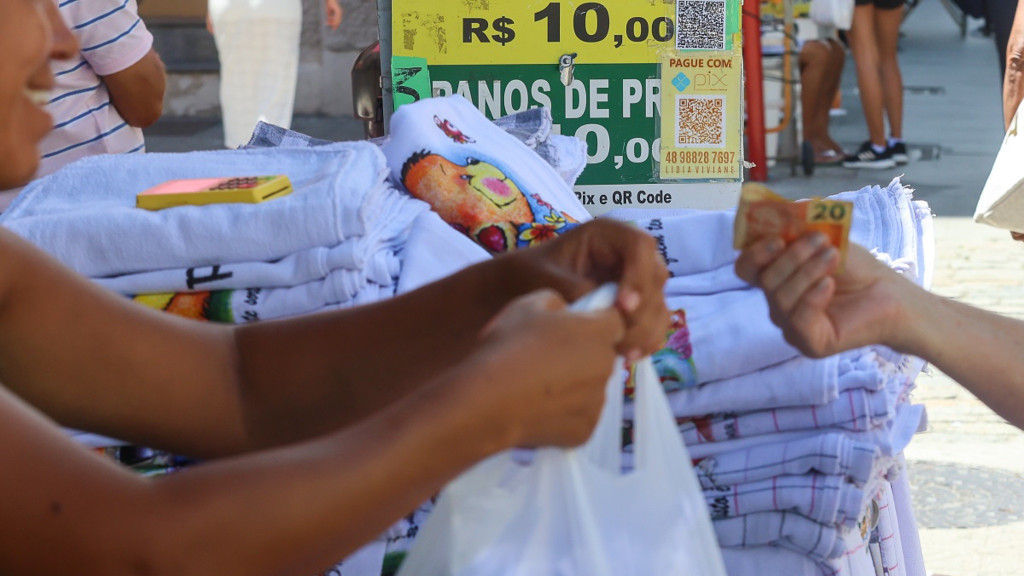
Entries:
{"type": "MultiPolygon", "coordinates": [[[[79,54],[54,60],[56,86],[46,110],[53,130],[39,145],[35,177],[96,154],[144,152],[142,130],[129,126],[111,104],[102,77],[139,61],[153,35],[138,16],[135,0],[57,0],[60,15],[78,38],[79,54]]],[[[17,190],[0,194],[0,209],[17,190]]]]}

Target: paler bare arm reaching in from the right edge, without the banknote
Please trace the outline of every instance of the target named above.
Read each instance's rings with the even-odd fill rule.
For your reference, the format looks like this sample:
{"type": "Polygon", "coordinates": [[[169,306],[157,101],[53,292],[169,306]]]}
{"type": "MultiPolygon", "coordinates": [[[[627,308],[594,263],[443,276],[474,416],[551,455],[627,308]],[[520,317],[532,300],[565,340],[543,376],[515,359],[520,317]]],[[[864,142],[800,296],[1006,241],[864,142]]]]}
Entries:
{"type": "Polygon", "coordinates": [[[752,245],[736,274],[761,286],[786,340],[812,357],[885,344],[923,358],[1024,428],[1024,323],[932,294],[851,245],[846,270],[824,237],[752,245]]]}

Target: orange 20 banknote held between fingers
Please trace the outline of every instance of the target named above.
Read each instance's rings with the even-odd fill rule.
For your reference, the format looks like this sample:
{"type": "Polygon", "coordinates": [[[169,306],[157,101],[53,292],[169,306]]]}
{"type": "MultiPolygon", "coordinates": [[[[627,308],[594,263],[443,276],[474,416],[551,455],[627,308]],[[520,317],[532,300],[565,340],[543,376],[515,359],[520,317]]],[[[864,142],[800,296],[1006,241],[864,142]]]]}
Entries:
{"type": "Polygon", "coordinates": [[[778,237],[790,244],[811,232],[820,232],[839,250],[840,269],[850,242],[853,204],[839,200],[791,201],[759,183],[743,184],[733,228],[737,250],[762,238],[778,237]]]}

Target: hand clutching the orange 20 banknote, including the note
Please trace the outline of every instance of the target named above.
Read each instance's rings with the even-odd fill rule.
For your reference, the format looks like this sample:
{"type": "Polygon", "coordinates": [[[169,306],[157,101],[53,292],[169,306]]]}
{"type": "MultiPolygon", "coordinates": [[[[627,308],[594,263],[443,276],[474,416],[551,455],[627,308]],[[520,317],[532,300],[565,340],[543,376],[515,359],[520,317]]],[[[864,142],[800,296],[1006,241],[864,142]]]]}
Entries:
{"type": "Polygon", "coordinates": [[[921,290],[850,245],[849,210],[843,218],[837,210],[830,220],[809,221],[809,213],[830,209],[814,202],[744,191],[736,214],[735,243],[742,248],[736,275],[764,290],[772,321],[807,356],[876,343],[901,347],[907,303],[920,299],[921,290]]]}

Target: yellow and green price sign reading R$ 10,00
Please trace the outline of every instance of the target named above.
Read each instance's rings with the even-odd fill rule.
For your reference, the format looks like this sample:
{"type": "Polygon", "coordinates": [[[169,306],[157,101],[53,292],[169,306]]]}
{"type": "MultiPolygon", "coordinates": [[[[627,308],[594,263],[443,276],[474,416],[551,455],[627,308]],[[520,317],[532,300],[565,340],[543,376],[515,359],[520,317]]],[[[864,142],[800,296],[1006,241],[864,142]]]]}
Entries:
{"type": "MultiPolygon", "coordinates": [[[[598,187],[621,200],[653,194],[646,207],[689,207],[680,204],[680,191],[671,201],[665,191],[685,181],[738,181],[741,126],[734,123],[727,128],[736,137],[722,138],[731,154],[721,156],[732,159],[733,169],[660,169],[663,63],[709,50],[737,53],[738,0],[393,0],[392,16],[396,106],[461,94],[489,118],[548,107],[558,133],[587,142],[581,198],[590,193],[579,188],[598,187]],[[429,92],[412,80],[424,63],[429,92]]],[[[699,104],[689,109],[699,111],[699,104]]],[[[734,117],[741,117],[740,105],[738,97],[726,102],[734,117]]],[[[673,107],[676,118],[677,100],[673,107]]],[[[609,204],[592,212],[634,205],[609,204]]]]}

